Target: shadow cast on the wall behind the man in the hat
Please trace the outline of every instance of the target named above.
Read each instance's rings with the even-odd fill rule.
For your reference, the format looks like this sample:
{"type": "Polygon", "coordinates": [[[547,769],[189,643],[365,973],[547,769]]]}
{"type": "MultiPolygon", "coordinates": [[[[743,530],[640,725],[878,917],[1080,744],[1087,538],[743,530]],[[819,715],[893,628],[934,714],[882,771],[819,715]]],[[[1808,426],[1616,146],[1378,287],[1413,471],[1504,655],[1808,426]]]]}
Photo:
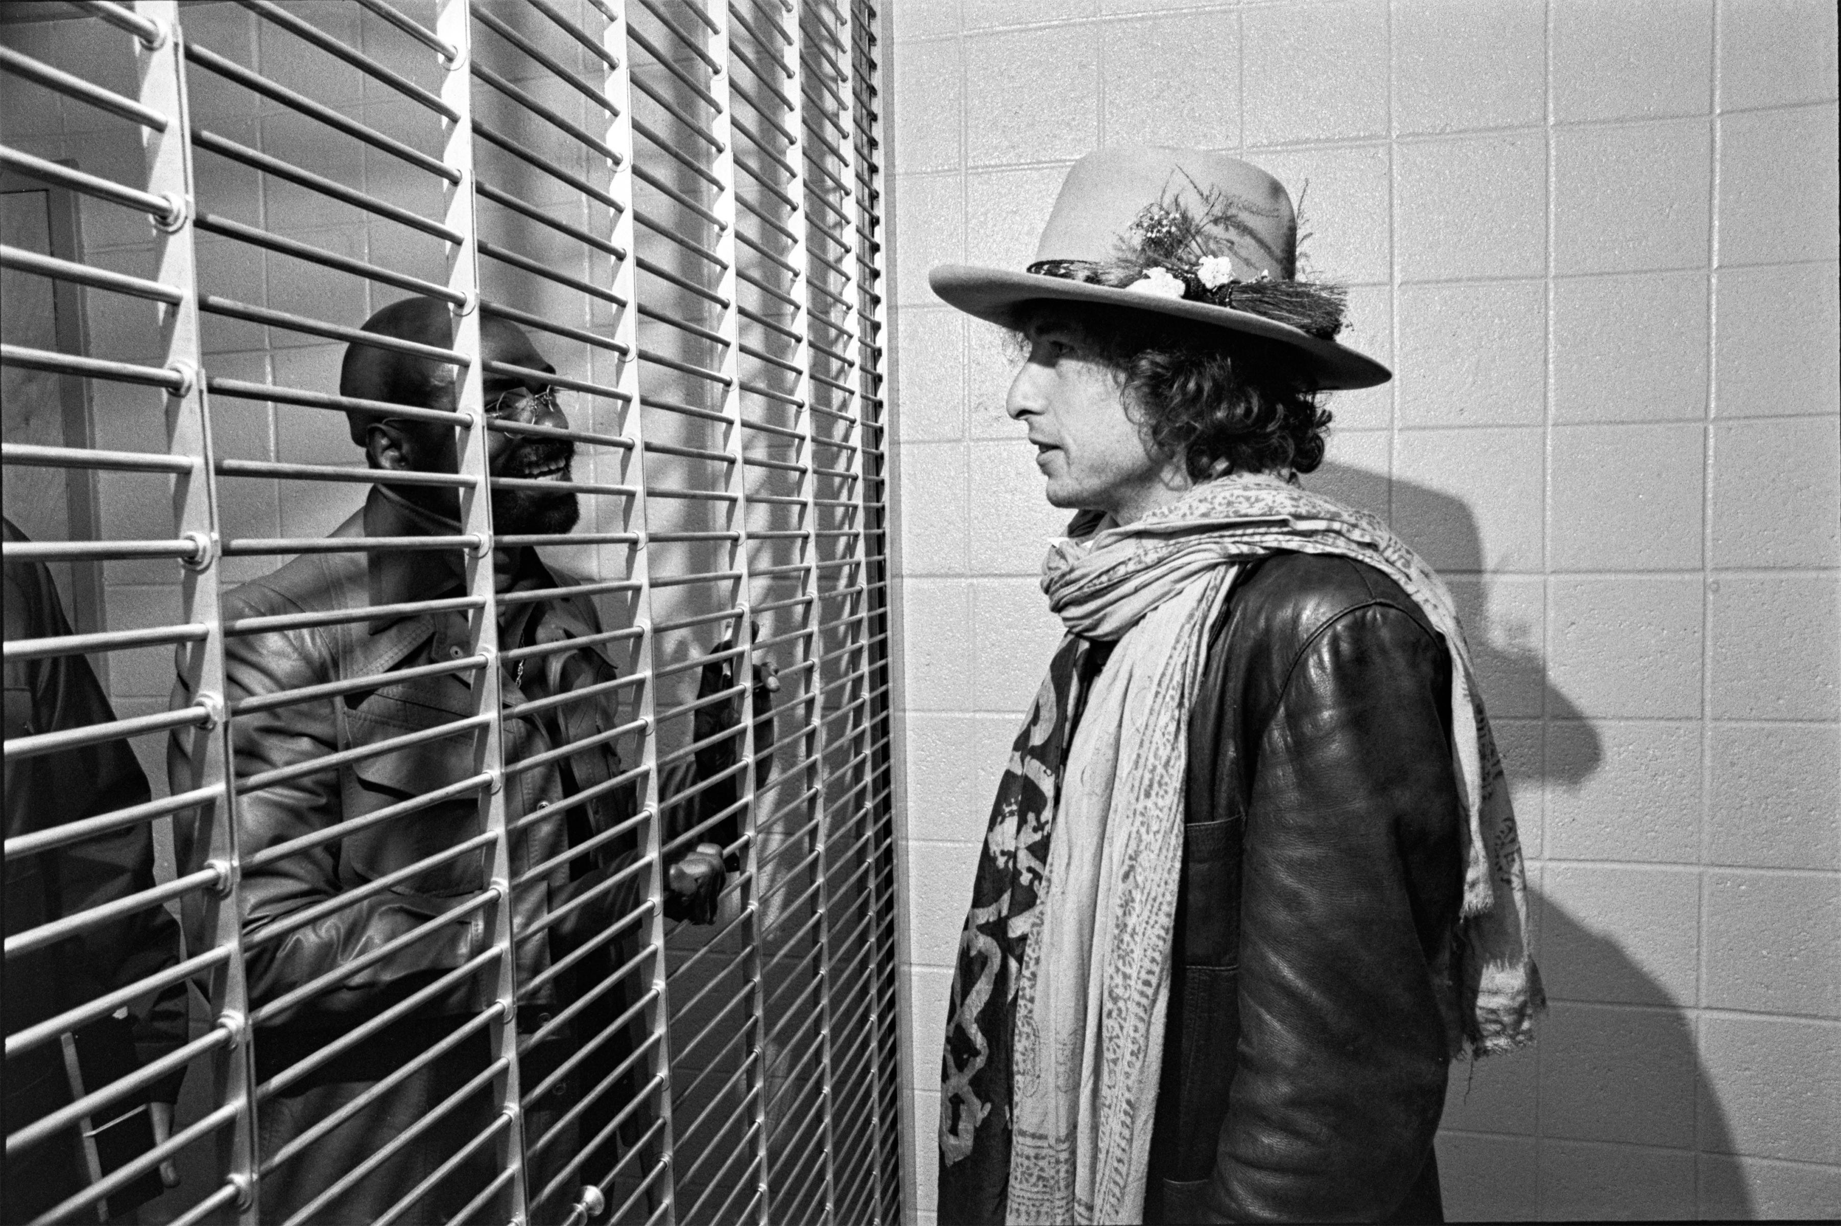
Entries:
{"type": "MultiPolygon", "coordinates": [[[[1484,585],[1467,578],[1484,571],[1471,508],[1335,462],[1305,484],[1390,521],[1408,519],[1397,512],[1412,508],[1401,528],[1436,532],[1510,781],[1578,788],[1591,777],[1604,758],[1600,736],[1552,685],[1539,650],[1488,633],[1484,585]],[[1563,755],[1543,751],[1543,722],[1576,729],[1563,755]]],[[[1528,847],[1530,856],[1539,850],[1528,847]]],[[[1738,1163],[1703,1156],[1727,1154],[1732,1143],[1725,1112],[1705,1092],[1694,1020],[1615,937],[1594,931],[1591,917],[1567,913],[1537,889],[1528,891],[1528,913],[1552,1009],[1534,1053],[1453,1068],[1438,1141],[1447,1217],[1751,1217],[1738,1163]]]]}

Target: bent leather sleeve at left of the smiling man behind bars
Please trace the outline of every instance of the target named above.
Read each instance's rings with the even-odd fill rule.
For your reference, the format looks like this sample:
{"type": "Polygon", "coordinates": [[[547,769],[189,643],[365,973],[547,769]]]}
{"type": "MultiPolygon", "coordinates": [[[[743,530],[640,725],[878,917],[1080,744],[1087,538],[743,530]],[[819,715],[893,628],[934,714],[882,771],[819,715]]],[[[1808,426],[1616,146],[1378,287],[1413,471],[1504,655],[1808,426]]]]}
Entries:
{"type": "MultiPolygon", "coordinates": [[[[311,639],[309,639],[311,644],[311,639]]],[[[333,681],[322,663],[330,652],[304,650],[296,635],[232,639],[225,653],[228,700],[239,701],[304,685],[333,681]]],[[[322,758],[339,749],[333,703],[317,700],[271,707],[237,716],[234,749],[237,782],[322,758]]],[[[179,790],[180,781],[173,782],[179,790]]],[[[188,784],[190,786],[190,784],[188,784]]],[[[335,827],[346,817],[337,769],[320,769],[261,786],[239,799],[237,834],[241,858],[252,858],[335,827]]],[[[339,878],[341,843],[318,843],[289,856],[243,869],[243,948],[250,1001],[263,1005],[282,994],[376,950],[420,924],[468,902],[466,896],[434,896],[412,887],[387,889],[333,909],[313,922],[287,928],[296,915],[344,893],[339,878]]],[[[278,1024],[311,1016],[317,1024],[363,1018],[425,987],[442,972],[486,948],[479,913],[469,920],[411,943],[379,963],[342,979],[313,1001],[271,1018],[278,1024]]],[[[471,1007],[468,977],[451,1000],[431,1001],[423,1012],[460,1012],[471,1007]]]]}

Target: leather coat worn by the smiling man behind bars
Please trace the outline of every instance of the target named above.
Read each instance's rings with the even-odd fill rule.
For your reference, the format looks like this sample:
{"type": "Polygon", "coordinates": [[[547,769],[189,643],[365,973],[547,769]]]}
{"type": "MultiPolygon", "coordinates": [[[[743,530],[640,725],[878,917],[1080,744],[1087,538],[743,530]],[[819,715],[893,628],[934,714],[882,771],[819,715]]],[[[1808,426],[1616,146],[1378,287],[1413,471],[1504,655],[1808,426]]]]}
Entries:
{"type": "MultiPolygon", "coordinates": [[[[365,510],[333,536],[440,536],[458,528],[418,512],[399,497],[374,488],[365,510]]],[[[280,571],[228,593],[226,619],[359,609],[412,600],[464,595],[458,587],[458,554],[440,550],[379,550],[302,554],[280,571]]],[[[536,554],[510,591],[556,593],[539,600],[508,602],[499,628],[501,646],[589,639],[602,630],[589,600],[571,596],[569,584],[552,576],[536,554]]],[[[376,688],[335,698],[287,703],[237,716],[232,725],[236,775],[245,786],[267,782],[239,801],[239,839],[245,863],[276,845],[328,830],[339,823],[363,819],[412,797],[469,779],[475,766],[473,736],[460,733],[401,746],[376,757],[346,762],[335,769],[311,769],[313,762],[335,753],[363,749],[388,738],[436,729],[473,714],[468,672],[412,676],[392,681],[390,674],[460,659],[469,653],[462,613],[436,613],[399,619],[339,622],[304,630],[230,637],[225,646],[228,700],[232,703],[379,676],[376,688]],[[272,782],[271,782],[272,781],[272,782]]],[[[503,703],[536,709],[504,720],[503,757],[504,808],[510,838],[510,878],[514,882],[514,931],[530,933],[515,943],[517,1029],[545,1027],[563,1009],[573,1011],[569,1027],[550,1031],[545,1042],[521,1044],[523,1086],[543,1081],[545,1073],[574,1051],[574,1042],[598,1035],[637,996],[626,976],[613,990],[589,998],[589,990],[615,966],[639,950],[644,924],[637,908],[646,895],[646,873],[639,865],[639,839],[620,832],[639,812],[639,795],[622,766],[615,742],[602,734],[622,722],[620,703],[630,687],[617,685],[619,672],[604,648],[587,642],[574,650],[532,657],[527,666],[506,666],[501,677],[503,703]],[[554,703],[547,700],[558,700],[554,703]],[[595,740],[602,736],[602,740],[595,740]],[[585,747],[558,755],[554,749],[585,742],[585,747]],[[521,764],[536,766],[521,766],[521,764]],[[563,806],[571,795],[593,793],[591,801],[563,806]],[[556,806],[558,812],[545,814],[556,806]],[[571,849],[593,845],[591,852],[569,858],[571,849]],[[582,944],[620,924],[620,935],[587,957],[573,957],[582,944]],[[569,1031],[574,1031],[571,1035],[569,1031]]],[[[705,683],[709,677],[705,676],[705,683]]],[[[701,714],[701,712],[700,712],[701,714]]],[[[733,712],[714,714],[709,723],[733,723],[733,712]]],[[[771,725],[768,725],[771,740],[771,725]]],[[[714,731],[700,722],[700,736],[714,731]]],[[[735,755],[735,740],[722,742],[714,755],[700,751],[665,771],[661,797],[683,790],[692,777],[712,777],[735,755]]],[[[190,760],[175,742],[175,768],[190,760]]],[[[182,769],[173,788],[193,786],[182,769]]],[[[733,792],[733,788],[731,788],[733,792]]],[[[700,821],[703,810],[722,803],[722,788],[709,788],[696,803],[666,810],[665,839],[676,838],[700,821]]],[[[353,830],[346,838],[318,843],[280,860],[260,862],[243,871],[243,941],[250,1003],[261,1007],[333,968],[374,952],[403,933],[462,908],[486,887],[486,850],[446,858],[388,889],[372,887],[409,865],[436,856],[482,832],[477,793],[468,792],[412,817],[385,821],[353,830]],[[368,887],[368,893],[366,893],[368,887]],[[287,935],[269,939],[269,931],[289,926],[295,915],[324,906],[341,895],[352,904],[320,915],[287,935]]],[[[712,830],[703,838],[729,841],[733,830],[712,830]]],[[[677,849],[681,856],[685,849],[677,849]]],[[[193,867],[201,843],[179,827],[182,869],[193,867]]],[[[718,884],[720,885],[720,884],[718,884]]],[[[670,896],[668,896],[670,900],[670,896]]],[[[670,911],[668,911],[670,913],[670,911]]],[[[267,1082],[276,1073],[320,1049],[352,1027],[376,1016],[412,990],[436,981],[446,972],[492,946],[486,922],[490,909],[475,909],[460,922],[436,928],[388,957],[344,977],[331,990],[298,1001],[267,1018],[256,1029],[256,1077],[267,1082]]],[[[188,920],[193,917],[188,915],[188,920]]],[[[203,933],[201,933],[203,935],[203,933]]],[[[416,1014],[333,1058],[306,1079],[265,1095],[258,1112],[258,1143],[263,1160],[274,1158],[309,1128],[341,1110],[379,1079],[401,1070],[442,1036],[453,1033],[469,1014],[493,998],[495,977],[471,974],[427,1001],[416,1014]]],[[[613,1070],[630,1036],[617,1033],[595,1057],[576,1064],[543,1101],[525,1110],[527,1138],[541,1136],[558,1116],[578,1103],[582,1092],[613,1070]]],[[[490,1060],[486,1035],[475,1033],[444,1057],[399,1081],[330,1134],[320,1136],[261,1180],[263,1220],[284,1220],[309,1200],[333,1187],[359,1167],[379,1145],[405,1128],[427,1128],[420,1139],[398,1151],[363,1182],[311,1215],[311,1220],[359,1222],[385,1213],[449,1154],[486,1128],[495,1105],[481,1090],[469,1099],[440,1110],[447,1095],[458,1092],[490,1060]]],[[[595,1136],[598,1127],[630,1101],[622,1084],[604,1090],[585,1110],[569,1136],[562,1136],[532,1163],[536,1186],[556,1162],[571,1158],[571,1136],[595,1136]]],[[[606,1154],[608,1151],[602,1151],[606,1154]]],[[[407,1222],[446,1220],[493,1174],[493,1147],[475,1151],[468,1169],[455,1171],[434,1193],[399,1219],[407,1222]]],[[[550,1202],[554,1208],[554,1202],[550,1202]]]]}

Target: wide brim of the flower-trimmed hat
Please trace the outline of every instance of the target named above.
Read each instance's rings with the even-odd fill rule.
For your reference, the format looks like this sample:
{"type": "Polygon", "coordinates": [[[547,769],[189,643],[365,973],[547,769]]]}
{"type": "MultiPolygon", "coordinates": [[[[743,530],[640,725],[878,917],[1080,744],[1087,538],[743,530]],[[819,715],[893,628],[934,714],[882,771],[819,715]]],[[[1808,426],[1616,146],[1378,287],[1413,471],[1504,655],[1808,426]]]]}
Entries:
{"type": "Polygon", "coordinates": [[[1105,306],[1129,307],[1134,311],[1154,311],[1191,318],[1198,324],[1213,324],[1228,331],[1245,331],[1254,337],[1267,337],[1298,350],[1305,368],[1316,376],[1316,385],[1327,390],[1351,390],[1375,387],[1394,377],[1386,366],[1357,353],[1355,350],[1320,341],[1291,324],[1279,324],[1263,315],[1217,307],[1208,302],[1189,302],[1186,298],[1158,298],[1154,295],[1110,285],[1086,285],[1068,282],[1059,276],[1040,276],[1036,272],[1007,272],[1003,269],[979,269],[963,263],[944,263],[928,274],[928,283],[941,298],[959,307],[967,315],[1011,328],[1014,311],[1024,302],[1055,298],[1062,302],[1099,302],[1105,306]]]}

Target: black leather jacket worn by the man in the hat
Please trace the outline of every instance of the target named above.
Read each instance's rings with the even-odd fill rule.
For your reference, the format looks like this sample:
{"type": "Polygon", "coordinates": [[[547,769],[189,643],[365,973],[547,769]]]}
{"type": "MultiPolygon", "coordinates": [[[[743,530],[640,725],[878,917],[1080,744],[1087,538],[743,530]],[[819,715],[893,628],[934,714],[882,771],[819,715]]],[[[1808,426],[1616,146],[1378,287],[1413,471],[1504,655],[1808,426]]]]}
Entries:
{"type": "Polygon", "coordinates": [[[1443,639],[1357,561],[1250,567],[1211,630],[1187,788],[1145,1220],[1442,1220],[1443,639]]]}

